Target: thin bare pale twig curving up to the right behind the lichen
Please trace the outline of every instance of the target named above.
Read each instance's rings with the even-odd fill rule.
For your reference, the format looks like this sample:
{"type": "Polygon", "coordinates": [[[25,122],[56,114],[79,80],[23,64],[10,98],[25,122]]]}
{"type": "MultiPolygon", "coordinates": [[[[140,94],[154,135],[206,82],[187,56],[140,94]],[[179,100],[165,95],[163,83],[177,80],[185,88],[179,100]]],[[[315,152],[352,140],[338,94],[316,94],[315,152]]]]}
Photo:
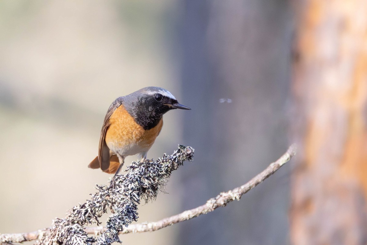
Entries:
{"type": "MultiPolygon", "coordinates": [[[[264,171],[259,173],[257,176],[252,178],[246,184],[241,185],[233,190],[227,192],[221,192],[217,197],[209,199],[204,205],[201,205],[197,208],[186,210],[178,215],[174,215],[171,217],[167,217],[165,219],[156,221],[156,222],[148,222],[141,224],[130,224],[128,227],[125,227],[122,234],[126,233],[142,233],[147,231],[156,231],[161,228],[171,226],[172,224],[179,223],[184,220],[189,220],[194,217],[197,217],[202,214],[206,214],[208,212],[212,212],[213,210],[226,206],[229,202],[234,200],[239,200],[243,194],[250,191],[256,185],[260,184],[270,175],[275,173],[281,166],[283,166],[286,162],[288,162],[292,156],[296,153],[296,146],[291,145],[287,152],[284,153],[277,161],[271,163],[264,171]]],[[[50,229],[44,229],[39,231],[34,231],[31,233],[18,233],[18,234],[0,234],[0,242],[23,242],[23,241],[31,241],[34,239],[42,239],[45,234],[49,232],[50,229]]],[[[105,232],[107,229],[102,226],[98,227],[88,227],[85,229],[85,232],[88,234],[100,235],[105,232]]]]}

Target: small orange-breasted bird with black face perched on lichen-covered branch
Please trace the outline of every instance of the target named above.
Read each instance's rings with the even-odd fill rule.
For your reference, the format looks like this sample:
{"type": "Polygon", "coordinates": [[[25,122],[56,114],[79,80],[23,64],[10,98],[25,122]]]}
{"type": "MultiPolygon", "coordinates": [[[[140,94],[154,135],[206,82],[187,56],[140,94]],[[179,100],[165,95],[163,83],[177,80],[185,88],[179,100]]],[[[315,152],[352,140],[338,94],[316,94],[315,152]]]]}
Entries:
{"type": "Polygon", "coordinates": [[[145,87],[117,98],[108,108],[99,138],[98,156],[92,169],[119,173],[126,156],[138,155],[140,162],[152,147],[163,126],[163,114],[172,109],[190,110],[161,87],[145,87]]]}

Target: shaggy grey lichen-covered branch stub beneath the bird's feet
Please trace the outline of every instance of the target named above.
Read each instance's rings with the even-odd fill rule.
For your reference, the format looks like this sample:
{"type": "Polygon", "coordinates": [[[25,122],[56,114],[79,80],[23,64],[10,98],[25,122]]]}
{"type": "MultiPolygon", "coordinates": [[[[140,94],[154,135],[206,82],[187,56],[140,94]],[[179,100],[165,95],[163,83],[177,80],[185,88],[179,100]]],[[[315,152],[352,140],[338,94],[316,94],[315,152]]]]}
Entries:
{"type": "Polygon", "coordinates": [[[50,234],[37,244],[111,244],[120,242],[119,233],[132,221],[138,219],[138,205],[141,199],[155,199],[173,170],[185,161],[192,161],[194,149],[179,145],[172,155],[164,154],[158,161],[133,162],[126,174],[117,175],[109,186],[97,185],[98,192],[91,200],[75,206],[65,219],[52,223],[50,234]],[[112,212],[101,236],[88,237],[84,226],[101,222],[98,220],[108,210],[112,212]]]}

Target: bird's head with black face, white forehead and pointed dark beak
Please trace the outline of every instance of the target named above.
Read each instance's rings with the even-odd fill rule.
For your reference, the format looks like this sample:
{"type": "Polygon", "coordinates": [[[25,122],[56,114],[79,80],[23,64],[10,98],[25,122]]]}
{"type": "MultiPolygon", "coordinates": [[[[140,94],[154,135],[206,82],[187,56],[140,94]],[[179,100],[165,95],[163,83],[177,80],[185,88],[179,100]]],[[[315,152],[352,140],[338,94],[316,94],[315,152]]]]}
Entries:
{"type": "MultiPolygon", "coordinates": [[[[133,94],[131,94],[133,95],[133,94]]],[[[172,109],[190,110],[181,105],[171,94],[140,93],[131,98],[131,107],[126,108],[135,121],[145,130],[157,126],[163,114],[172,109]]]]}

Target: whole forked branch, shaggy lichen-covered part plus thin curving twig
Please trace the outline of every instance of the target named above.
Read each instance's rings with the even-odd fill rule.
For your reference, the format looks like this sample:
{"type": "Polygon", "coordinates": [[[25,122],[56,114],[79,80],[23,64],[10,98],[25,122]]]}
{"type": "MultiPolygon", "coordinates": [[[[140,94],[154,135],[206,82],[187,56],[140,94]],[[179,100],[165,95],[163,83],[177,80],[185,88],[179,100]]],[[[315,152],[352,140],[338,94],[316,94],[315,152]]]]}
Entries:
{"type": "MultiPolygon", "coordinates": [[[[233,190],[230,190],[228,192],[222,192],[217,197],[209,199],[204,205],[201,205],[197,208],[187,210],[185,212],[182,212],[178,215],[174,215],[165,219],[162,219],[160,221],[156,222],[149,222],[149,223],[141,223],[141,224],[131,224],[128,227],[123,227],[124,224],[130,222],[132,219],[136,219],[136,212],[134,215],[133,210],[136,210],[136,205],[138,202],[135,202],[136,195],[143,196],[145,198],[152,198],[156,197],[157,191],[159,190],[159,186],[161,186],[162,183],[164,183],[165,178],[169,177],[172,170],[177,169],[179,165],[182,165],[183,161],[191,160],[193,149],[191,147],[183,147],[180,146],[179,150],[176,151],[171,156],[164,156],[162,159],[159,159],[157,162],[150,162],[148,164],[154,163],[155,166],[148,166],[144,164],[139,163],[133,163],[129,168],[128,174],[137,174],[138,183],[134,184],[134,187],[130,186],[128,187],[128,190],[123,189],[122,187],[126,188],[124,185],[125,181],[128,181],[128,183],[132,183],[134,181],[131,180],[132,175],[124,175],[119,176],[118,179],[116,179],[116,183],[110,185],[110,187],[98,187],[99,192],[92,196],[92,201],[88,201],[87,203],[84,203],[83,205],[78,205],[73,208],[71,213],[68,215],[67,219],[71,217],[74,221],[74,225],[67,222],[67,220],[57,220],[54,221],[53,226],[51,227],[51,230],[49,228],[39,231],[34,231],[31,233],[18,233],[18,234],[0,234],[0,243],[9,243],[9,242],[24,242],[24,241],[31,241],[35,239],[39,239],[39,244],[46,241],[51,241],[51,239],[56,239],[57,241],[58,237],[65,237],[66,235],[66,241],[69,242],[81,242],[81,244],[91,244],[92,242],[95,242],[96,240],[94,238],[87,237],[87,234],[94,234],[94,235],[101,235],[97,242],[100,244],[106,242],[107,244],[112,241],[119,241],[117,234],[120,233],[142,233],[147,231],[156,231],[161,228],[170,226],[172,224],[176,224],[178,222],[189,220],[194,217],[197,217],[199,215],[211,212],[219,207],[226,206],[229,202],[232,202],[234,200],[239,200],[243,194],[254,188],[256,185],[260,184],[262,181],[264,181],[266,178],[268,178],[270,175],[276,172],[281,166],[284,165],[284,163],[288,162],[292,156],[294,156],[296,153],[296,147],[295,145],[291,145],[287,152],[283,154],[277,161],[271,163],[264,171],[259,173],[257,176],[252,178],[250,181],[248,181],[246,184],[241,185],[240,187],[237,187],[233,190]],[[159,170],[157,169],[158,166],[164,166],[163,168],[159,167],[159,170]],[[142,169],[140,169],[142,167],[142,169]],[[143,170],[143,171],[142,171],[143,170]],[[163,172],[161,170],[164,170],[163,172]],[[142,171],[142,172],[141,172],[142,171]],[[152,174],[155,173],[155,174],[152,174]],[[146,179],[145,174],[148,174],[148,179],[146,179]],[[130,177],[128,177],[130,176],[130,177]],[[143,178],[143,179],[141,179],[143,178]],[[122,181],[122,182],[121,182],[122,181]],[[148,181],[145,183],[145,181],[148,181]],[[139,185],[142,184],[141,186],[139,185]],[[152,188],[152,185],[148,183],[157,183],[152,188]],[[137,186],[135,186],[138,184],[137,186]],[[138,187],[140,186],[140,187],[138,187]],[[135,188],[139,191],[136,191],[135,188]],[[132,191],[132,190],[135,191],[132,191]],[[116,193],[112,193],[113,191],[116,191],[116,193]],[[127,192],[123,192],[127,191],[127,192]],[[133,194],[135,193],[135,194],[133,194]],[[139,194],[137,194],[139,193],[139,194]],[[132,197],[131,197],[132,194],[132,197]],[[110,195],[110,196],[108,196],[110,195]],[[126,206],[126,197],[129,196],[129,198],[132,198],[133,206],[126,206]],[[106,201],[101,201],[101,198],[104,198],[106,201]],[[135,198],[134,198],[135,197],[135,198]],[[97,201],[96,203],[91,203],[94,201],[97,201]],[[121,202],[121,203],[117,203],[121,202]],[[125,203],[125,204],[124,204],[125,203]],[[135,204],[134,204],[135,203],[135,204]],[[135,205],[135,206],[134,206],[135,205]],[[100,217],[100,212],[106,210],[106,206],[109,208],[112,208],[112,210],[116,212],[110,217],[108,224],[106,227],[88,227],[81,232],[80,229],[83,229],[81,224],[89,224],[89,223],[98,223],[98,217],[100,217]],[[122,208],[121,208],[122,207],[122,208]],[[121,212],[121,210],[126,210],[124,212],[121,212]],[[130,210],[130,214],[128,213],[130,210]],[[91,212],[92,211],[92,212],[91,212]],[[129,219],[127,220],[124,217],[121,217],[121,214],[128,214],[129,219]],[[94,214],[94,215],[92,215],[94,214]],[[81,219],[78,221],[77,219],[81,219]],[[117,221],[117,227],[112,222],[117,221]],[[57,225],[62,223],[63,227],[63,233],[60,233],[60,230],[58,230],[57,225]],[[65,223],[67,224],[65,226],[65,223]],[[122,226],[121,226],[122,225],[122,226]],[[67,230],[69,229],[69,230],[67,230]],[[121,229],[121,230],[120,230],[121,229]],[[50,233],[51,231],[51,233],[50,233]],[[77,237],[68,237],[67,233],[65,234],[65,231],[70,232],[77,232],[77,237]],[[49,235],[47,235],[49,234],[49,235]],[[53,235],[52,235],[53,234],[53,235]],[[59,235],[55,235],[59,234],[59,235]],[[103,235],[105,234],[105,235],[103,235]]],[[[134,179],[134,178],[133,178],[134,179]]],[[[140,199],[140,198],[139,198],[140,199]]],[[[129,201],[129,200],[127,200],[129,201]]],[[[52,244],[52,242],[50,242],[52,244]]]]}

